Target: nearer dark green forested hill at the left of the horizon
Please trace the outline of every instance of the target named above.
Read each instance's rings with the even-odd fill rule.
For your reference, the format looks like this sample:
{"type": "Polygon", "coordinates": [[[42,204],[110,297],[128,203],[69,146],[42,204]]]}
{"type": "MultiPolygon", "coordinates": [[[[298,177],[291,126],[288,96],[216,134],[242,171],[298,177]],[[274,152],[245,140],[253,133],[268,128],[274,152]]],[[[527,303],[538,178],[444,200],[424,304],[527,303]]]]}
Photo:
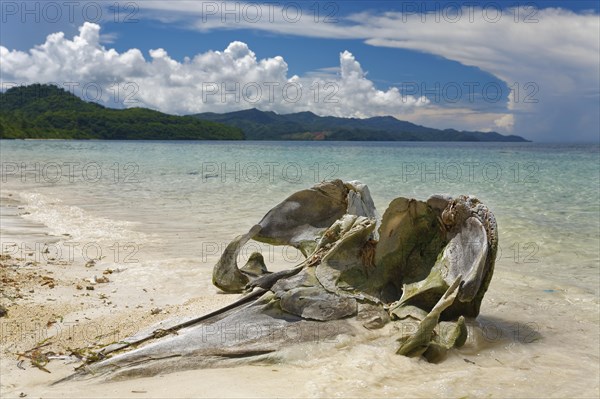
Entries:
{"type": "Polygon", "coordinates": [[[145,108],[111,109],[52,85],[0,93],[0,138],[243,140],[240,129],[145,108]]]}

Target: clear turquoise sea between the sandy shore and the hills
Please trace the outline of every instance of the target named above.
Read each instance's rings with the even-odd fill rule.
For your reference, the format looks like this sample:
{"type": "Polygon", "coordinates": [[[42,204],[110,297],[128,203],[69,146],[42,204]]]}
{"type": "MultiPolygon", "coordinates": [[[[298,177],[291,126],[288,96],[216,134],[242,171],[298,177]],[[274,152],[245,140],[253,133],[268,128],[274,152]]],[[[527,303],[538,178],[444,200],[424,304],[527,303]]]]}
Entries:
{"type": "Polygon", "coordinates": [[[598,289],[586,274],[598,275],[597,145],[3,141],[0,147],[2,194],[17,194],[35,205],[31,218],[77,239],[145,245],[135,234],[141,233],[160,238],[152,244],[163,256],[194,257],[202,241],[245,231],[297,190],[327,179],[360,180],[381,214],[398,196],[475,195],[495,213],[500,257],[512,260],[512,268],[598,289]],[[120,226],[127,226],[123,237],[115,236],[120,226]]]}

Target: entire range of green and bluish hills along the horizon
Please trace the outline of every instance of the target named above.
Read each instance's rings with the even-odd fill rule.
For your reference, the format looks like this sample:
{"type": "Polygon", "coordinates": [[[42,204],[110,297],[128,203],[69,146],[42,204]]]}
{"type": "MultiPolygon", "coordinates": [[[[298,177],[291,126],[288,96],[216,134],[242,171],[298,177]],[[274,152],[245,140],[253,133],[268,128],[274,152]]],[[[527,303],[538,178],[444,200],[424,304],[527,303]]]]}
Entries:
{"type": "Polygon", "coordinates": [[[356,119],[321,117],[312,112],[278,115],[257,109],[175,116],[146,108],[112,109],[41,84],[0,93],[0,138],[527,141],[495,132],[433,129],[391,116],[356,119]]]}

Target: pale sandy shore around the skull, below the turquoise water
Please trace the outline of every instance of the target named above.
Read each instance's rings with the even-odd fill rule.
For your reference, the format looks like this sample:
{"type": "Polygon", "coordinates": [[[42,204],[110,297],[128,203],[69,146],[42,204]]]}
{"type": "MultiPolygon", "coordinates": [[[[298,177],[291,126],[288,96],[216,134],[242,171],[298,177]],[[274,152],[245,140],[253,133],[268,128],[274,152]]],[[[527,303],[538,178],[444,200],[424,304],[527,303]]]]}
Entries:
{"type": "MultiPolygon", "coordinates": [[[[15,226],[11,230],[14,241],[64,239],[48,235],[49,228],[23,218],[20,214],[25,208],[20,209],[17,201],[5,205],[0,204],[2,228],[15,226]]],[[[7,240],[4,233],[3,240],[7,240]]],[[[582,384],[598,373],[600,353],[594,335],[598,321],[589,319],[598,311],[597,296],[544,276],[510,271],[502,262],[497,265],[476,322],[483,327],[483,338],[481,333],[471,336],[464,348],[453,351],[438,365],[397,356],[389,346],[344,338],[333,351],[302,347],[300,354],[269,365],[177,370],[126,381],[92,379],[50,386],[81,364],[76,356],[66,357],[70,350],[93,348],[144,329],[153,330],[161,321],[197,317],[239,296],[219,295],[212,289],[182,298],[172,284],[160,287],[160,275],[155,280],[149,279],[151,274],[144,275],[137,281],[135,265],[117,271],[120,266],[102,261],[86,267],[81,258],[72,262],[48,259],[37,264],[26,257],[16,258],[4,256],[0,261],[0,277],[12,280],[8,285],[3,283],[0,302],[8,305],[8,315],[0,318],[2,397],[17,398],[21,393],[28,398],[287,397],[290,384],[296,387],[294,395],[302,397],[522,397],[539,395],[542,381],[552,379],[561,384],[553,388],[555,396],[594,397],[600,392],[597,383],[582,384]],[[112,273],[104,274],[108,269],[112,273]],[[92,284],[94,277],[109,281],[92,284]],[[88,290],[88,286],[94,289],[88,290]],[[15,295],[17,287],[20,298],[15,295]],[[15,300],[5,302],[5,293],[15,300]],[[157,307],[161,311],[152,314],[157,307]],[[28,358],[20,362],[17,353],[31,355],[30,350],[36,347],[42,354],[54,352],[50,356],[54,358],[43,364],[50,373],[28,358]],[[573,358],[579,359],[579,368],[563,369],[561,365],[573,358]],[[395,370],[396,382],[388,380],[390,370],[395,370]],[[449,385],[430,386],[432,373],[449,385]],[[490,381],[495,384],[490,385],[490,381]],[[523,385],[525,381],[530,385],[523,385]],[[465,385],[467,382],[472,386],[465,385]]],[[[181,270],[171,272],[177,278],[181,270]]],[[[206,270],[196,270],[197,275],[202,273],[206,270]]]]}

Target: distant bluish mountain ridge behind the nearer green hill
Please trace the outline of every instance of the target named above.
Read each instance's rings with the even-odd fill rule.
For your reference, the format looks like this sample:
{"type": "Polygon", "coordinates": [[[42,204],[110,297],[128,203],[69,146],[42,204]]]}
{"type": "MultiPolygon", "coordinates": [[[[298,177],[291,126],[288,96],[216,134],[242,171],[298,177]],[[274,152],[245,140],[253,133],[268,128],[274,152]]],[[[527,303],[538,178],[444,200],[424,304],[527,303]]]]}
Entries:
{"type": "Polygon", "coordinates": [[[505,136],[496,132],[440,130],[392,116],[338,118],[318,116],[308,111],[281,115],[256,108],[224,114],[205,112],[193,116],[240,128],[248,140],[528,141],[520,136],[505,136]]]}

